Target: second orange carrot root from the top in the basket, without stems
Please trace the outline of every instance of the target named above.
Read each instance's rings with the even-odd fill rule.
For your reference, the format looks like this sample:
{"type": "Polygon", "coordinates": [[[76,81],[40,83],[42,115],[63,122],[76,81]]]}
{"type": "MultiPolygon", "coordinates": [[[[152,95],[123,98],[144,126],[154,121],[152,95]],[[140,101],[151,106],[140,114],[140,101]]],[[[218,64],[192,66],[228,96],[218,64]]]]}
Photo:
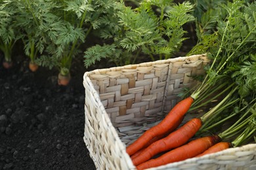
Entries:
{"type": "Polygon", "coordinates": [[[150,146],[144,149],[139,156],[132,158],[133,164],[135,166],[139,165],[144,161],[150,160],[150,158],[156,154],[181,146],[193,137],[201,126],[202,121],[200,118],[192,118],[179,129],[170,133],[167,137],[150,144],[150,146]]]}

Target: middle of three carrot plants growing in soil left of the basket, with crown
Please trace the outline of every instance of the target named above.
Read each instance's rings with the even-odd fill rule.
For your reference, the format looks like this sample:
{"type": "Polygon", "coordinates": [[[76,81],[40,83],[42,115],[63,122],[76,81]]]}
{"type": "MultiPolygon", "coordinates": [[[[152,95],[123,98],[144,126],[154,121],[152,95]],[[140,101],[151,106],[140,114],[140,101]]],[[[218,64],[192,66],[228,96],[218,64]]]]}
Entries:
{"type": "Polygon", "coordinates": [[[17,10],[16,27],[24,44],[24,54],[30,59],[28,67],[35,72],[39,58],[49,42],[47,29],[50,27],[54,4],[51,1],[10,1],[9,5],[17,10]]]}

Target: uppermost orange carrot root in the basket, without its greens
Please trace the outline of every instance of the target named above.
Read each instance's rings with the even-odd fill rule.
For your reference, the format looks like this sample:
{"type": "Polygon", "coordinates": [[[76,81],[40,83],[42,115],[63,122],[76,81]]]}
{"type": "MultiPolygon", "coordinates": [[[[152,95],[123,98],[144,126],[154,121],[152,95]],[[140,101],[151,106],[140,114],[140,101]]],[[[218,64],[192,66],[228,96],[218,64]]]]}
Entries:
{"type": "Polygon", "coordinates": [[[127,146],[126,152],[130,156],[135,154],[135,152],[139,151],[143,148],[151,139],[158,135],[163,135],[169,130],[175,129],[175,122],[179,121],[183,118],[184,114],[190,109],[194,99],[192,97],[187,97],[183,99],[171,111],[167,116],[156,126],[151,127],[143,135],[141,135],[137,141],[127,146]]]}

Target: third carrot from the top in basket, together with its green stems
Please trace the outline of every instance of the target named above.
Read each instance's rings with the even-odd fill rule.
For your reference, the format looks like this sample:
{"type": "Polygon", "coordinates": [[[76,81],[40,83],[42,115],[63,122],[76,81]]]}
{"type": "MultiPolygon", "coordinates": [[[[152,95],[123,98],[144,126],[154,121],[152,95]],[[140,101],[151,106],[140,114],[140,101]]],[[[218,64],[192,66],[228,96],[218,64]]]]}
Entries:
{"type": "Polygon", "coordinates": [[[234,136],[236,136],[236,139],[234,139],[234,141],[231,143],[234,147],[250,141],[256,134],[256,103],[254,103],[251,107],[249,106],[247,110],[244,110],[244,108],[241,109],[242,116],[234,124],[232,124],[232,126],[228,127],[228,129],[219,133],[219,135],[201,137],[199,139],[190,141],[188,144],[179,146],[178,148],[175,148],[156,159],[141,163],[137,166],[137,169],[156,167],[198,156],[214,144],[219,143],[219,141],[230,139],[234,136]]]}

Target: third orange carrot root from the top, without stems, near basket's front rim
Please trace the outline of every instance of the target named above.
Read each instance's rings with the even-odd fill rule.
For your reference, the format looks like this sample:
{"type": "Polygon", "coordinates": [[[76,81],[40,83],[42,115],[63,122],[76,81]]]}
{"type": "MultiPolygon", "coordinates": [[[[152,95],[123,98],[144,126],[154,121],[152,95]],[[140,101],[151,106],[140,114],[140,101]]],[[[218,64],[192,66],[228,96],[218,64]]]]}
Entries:
{"type": "Polygon", "coordinates": [[[149,161],[145,161],[137,166],[137,169],[146,169],[150,167],[158,167],[160,165],[165,165],[167,163],[173,163],[175,161],[182,161],[188,158],[192,158],[201,154],[209,147],[213,146],[215,143],[221,141],[221,138],[218,135],[201,137],[199,139],[195,139],[190,141],[188,144],[184,144],[175,148],[162,156],[152,159],[149,161]]]}

